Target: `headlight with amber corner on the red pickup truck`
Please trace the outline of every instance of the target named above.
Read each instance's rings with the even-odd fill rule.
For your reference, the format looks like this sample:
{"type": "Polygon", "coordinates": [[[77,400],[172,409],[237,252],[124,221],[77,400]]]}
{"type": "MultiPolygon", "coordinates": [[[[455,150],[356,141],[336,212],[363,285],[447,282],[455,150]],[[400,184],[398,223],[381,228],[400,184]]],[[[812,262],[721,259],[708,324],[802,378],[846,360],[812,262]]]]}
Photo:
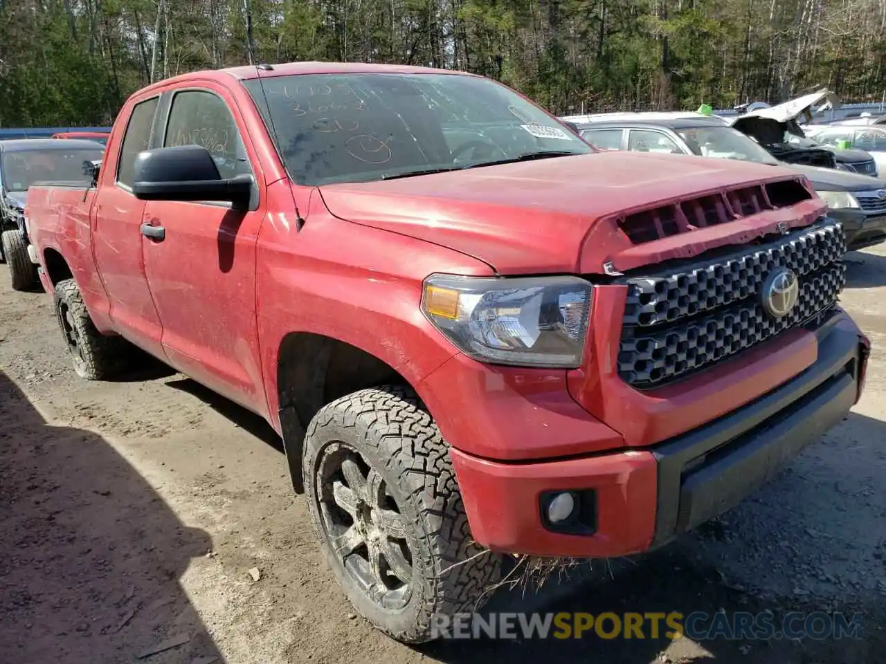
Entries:
{"type": "Polygon", "coordinates": [[[431,274],[424,280],[422,311],[470,358],[575,368],[585,348],[591,288],[571,276],[431,274]]]}

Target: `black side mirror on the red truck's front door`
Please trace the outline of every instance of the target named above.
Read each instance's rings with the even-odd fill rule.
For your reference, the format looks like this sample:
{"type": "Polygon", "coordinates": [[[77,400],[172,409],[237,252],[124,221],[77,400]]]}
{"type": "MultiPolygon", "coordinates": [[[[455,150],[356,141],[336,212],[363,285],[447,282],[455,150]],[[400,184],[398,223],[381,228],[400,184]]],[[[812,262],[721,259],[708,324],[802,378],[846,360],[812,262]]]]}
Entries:
{"type": "Polygon", "coordinates": [[[144,201],[226,201],[246,210],[253,184],[248,174],[222,178],[203,146],[179,145],[138,153],[132,193],[144,201]]]}

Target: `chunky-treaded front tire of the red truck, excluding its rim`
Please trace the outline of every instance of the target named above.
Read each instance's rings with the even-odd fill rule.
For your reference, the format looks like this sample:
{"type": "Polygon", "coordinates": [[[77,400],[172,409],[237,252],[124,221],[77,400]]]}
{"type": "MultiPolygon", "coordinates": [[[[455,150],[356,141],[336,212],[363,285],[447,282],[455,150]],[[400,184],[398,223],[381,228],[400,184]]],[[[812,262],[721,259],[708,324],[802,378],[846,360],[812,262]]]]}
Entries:
{"type": "Polygon", "coordinates": [[[354,608],[377,629],[404,643],[429,641],[439,636],[433,616],[474,612],[491,595],[501,557],[471,539],[448,446],[412,390],[360,390],[323,406],[307,428],[302,475],[323,554],[354,608]],[[323,454],[342,444],[382,475],[410,531],[411,595],[400,610],[361,590],[323,527],[317,471],[323,454]]]}

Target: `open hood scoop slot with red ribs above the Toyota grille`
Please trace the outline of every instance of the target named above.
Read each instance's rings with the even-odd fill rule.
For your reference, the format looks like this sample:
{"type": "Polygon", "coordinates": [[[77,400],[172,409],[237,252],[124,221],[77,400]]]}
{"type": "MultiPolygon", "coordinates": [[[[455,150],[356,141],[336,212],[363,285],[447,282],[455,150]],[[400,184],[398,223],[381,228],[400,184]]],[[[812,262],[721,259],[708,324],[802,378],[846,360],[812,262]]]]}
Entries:
{"type": "Polygon", "coordinates": [[[643,244],[778,210],[809,198],[812,195],[799,181],[773,181],[633,212],[618,220],[618,228],[633,244],[643,244]]]}

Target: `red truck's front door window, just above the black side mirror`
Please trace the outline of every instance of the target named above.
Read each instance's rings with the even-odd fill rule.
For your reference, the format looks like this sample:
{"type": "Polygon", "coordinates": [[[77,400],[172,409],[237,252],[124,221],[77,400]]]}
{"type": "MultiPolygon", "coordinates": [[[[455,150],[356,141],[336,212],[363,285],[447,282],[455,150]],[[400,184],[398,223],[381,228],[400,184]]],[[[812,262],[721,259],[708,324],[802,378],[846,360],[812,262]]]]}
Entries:
{"type": "Polygon", "coordinates": [[[175,94],[163,144],[202,145],[212,154],[223,178],[253,172],[234,116],[224,100],[212,92],[185,90],[175,94]]]}

